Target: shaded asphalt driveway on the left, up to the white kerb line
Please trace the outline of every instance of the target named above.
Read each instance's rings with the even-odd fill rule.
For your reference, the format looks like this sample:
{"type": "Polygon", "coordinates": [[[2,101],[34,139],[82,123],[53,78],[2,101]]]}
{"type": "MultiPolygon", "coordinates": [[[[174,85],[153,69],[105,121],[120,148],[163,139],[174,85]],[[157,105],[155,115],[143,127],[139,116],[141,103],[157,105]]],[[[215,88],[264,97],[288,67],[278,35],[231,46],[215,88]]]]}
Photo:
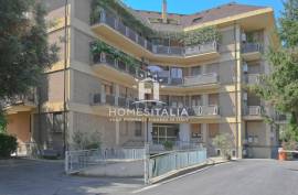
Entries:
{"type": "Polygon", "coordinates": [[[142,178],[67,176],[63,162],[0,160],[0,195],[126,195],[142,178]]]}

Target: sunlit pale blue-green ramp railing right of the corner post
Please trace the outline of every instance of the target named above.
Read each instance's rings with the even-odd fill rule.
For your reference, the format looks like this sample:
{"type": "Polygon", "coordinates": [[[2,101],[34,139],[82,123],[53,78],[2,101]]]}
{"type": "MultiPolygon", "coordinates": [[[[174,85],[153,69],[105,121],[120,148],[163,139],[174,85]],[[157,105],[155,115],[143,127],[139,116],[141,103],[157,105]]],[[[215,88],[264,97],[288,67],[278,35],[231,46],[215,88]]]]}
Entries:
{"type": "Polygon", "coordinates": [[[157,177],[204,162],[206,162],[206,150],[203,148],[152,155],[146,161],[145,166],[148,174],[146,174],[145,182],[150,184],[157,177]]]}

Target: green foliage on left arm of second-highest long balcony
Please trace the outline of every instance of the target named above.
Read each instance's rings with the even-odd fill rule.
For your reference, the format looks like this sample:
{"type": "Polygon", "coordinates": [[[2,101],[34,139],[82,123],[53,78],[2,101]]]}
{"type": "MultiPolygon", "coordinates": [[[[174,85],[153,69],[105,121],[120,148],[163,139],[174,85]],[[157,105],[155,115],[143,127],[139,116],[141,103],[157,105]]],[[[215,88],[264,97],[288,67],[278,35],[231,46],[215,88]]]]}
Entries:
{"type": "Polygon", "coordinates": [[[106,53],[113,56],[115,59],[121,61],[129,66],[140,68],[140,63],[138,63],[137,59],[99,40],[92,43],[91,51],[93,56],[99,56],[100,53],[106,53]]]}

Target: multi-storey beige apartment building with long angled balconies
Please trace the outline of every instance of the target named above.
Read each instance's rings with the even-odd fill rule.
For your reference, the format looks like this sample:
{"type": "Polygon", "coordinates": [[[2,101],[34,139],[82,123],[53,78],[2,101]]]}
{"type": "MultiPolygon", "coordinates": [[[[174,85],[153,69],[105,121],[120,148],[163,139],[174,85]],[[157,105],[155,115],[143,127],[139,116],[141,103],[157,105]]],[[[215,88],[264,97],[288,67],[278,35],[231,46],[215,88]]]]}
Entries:
{"type": "Polygon", "coordinates": [[[213,138],[228,133],[232,155],[274,158],[278,129],[263,115],[280,117],[247,89],[262,85],[259,76],[269,73],[263,53],[277,43],[272,8],[228,3],[179,14],[167,12],[167,1],[161,2],[161,12],[103,2],[111,6],[45,1],[47,20],[55,23],[49,29],[50,42],[62,50],[38,93],[6,107],[9,132],[20,143],[33,142],[62,154],[79,131],[96,133],[103,148],[140,147],[146,141],[160,145],[168,140],[201,143],[209,155],[216,155],[213,138]],[[148,36],[140,26],[158,37],[148,36]],[[191,45],[170,35],[210,26],[213,32],[209,32],[215,29],[220,39],[191,45]],[[139,98],[136,86],[148,73],[160,83],[159,99],[167,108],[187,108],[188,120],[110,120],[110,108],[131,108],[139,98]]]}

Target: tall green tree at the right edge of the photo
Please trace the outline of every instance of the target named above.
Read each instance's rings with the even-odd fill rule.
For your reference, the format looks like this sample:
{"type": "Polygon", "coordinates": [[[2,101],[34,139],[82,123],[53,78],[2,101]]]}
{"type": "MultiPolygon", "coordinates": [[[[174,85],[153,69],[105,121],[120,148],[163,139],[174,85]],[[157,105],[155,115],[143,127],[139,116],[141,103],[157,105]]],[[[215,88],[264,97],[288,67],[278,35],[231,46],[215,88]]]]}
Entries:
{"type": "Polygon", "coordinates": [[[292,132],[287,134],[298,141],[298,0],[287,0],[284,7],[277,32],[281,45],[270,46],[266,54],[273,72],[253,90],[277,110],[291,113],[288,130],[292,132]]]}

